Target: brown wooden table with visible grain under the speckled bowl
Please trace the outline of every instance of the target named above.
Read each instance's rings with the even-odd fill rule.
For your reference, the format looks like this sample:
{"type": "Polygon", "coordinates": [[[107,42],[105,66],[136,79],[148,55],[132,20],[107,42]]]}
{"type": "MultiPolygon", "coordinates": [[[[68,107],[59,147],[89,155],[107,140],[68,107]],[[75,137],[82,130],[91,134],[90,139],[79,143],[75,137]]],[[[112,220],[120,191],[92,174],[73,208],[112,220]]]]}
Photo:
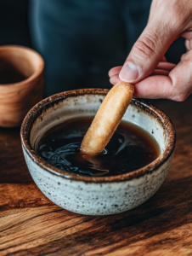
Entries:
{"type": "Polygon", "coordinates": [[[0,255],[192,255],[192,97],[154,102],[177,131],[167,179],[140,207],[106,217],[55,206],[27,170],[20,129],[0,129],[0,255]]]}

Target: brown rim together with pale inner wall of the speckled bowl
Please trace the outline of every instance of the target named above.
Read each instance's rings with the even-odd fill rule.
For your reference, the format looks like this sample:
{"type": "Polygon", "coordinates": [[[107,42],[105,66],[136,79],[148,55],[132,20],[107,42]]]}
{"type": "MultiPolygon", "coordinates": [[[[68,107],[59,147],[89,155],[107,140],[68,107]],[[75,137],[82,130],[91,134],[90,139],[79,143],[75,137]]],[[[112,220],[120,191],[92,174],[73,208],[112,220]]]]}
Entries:
{"type": "Polygon", "coordinates": [[[42,160],[35,152],[35,143],[39,137],[42,137],[45,131],[48,131],[54,125],[80,116],[95,115],[104,96],[108,90],[104,89],[81,89],[71,90],[50,96],[39,102],[27,113],[21,126],[21,142],[31,160],[46,172],[51,172],[60,177],[70,178],[76,181],[86,183],[115,182],[121,180],[130,180],[134,177],[143,176],[145,173],[158,170],[172,155],[175,146],[175,131],[172,122],[161,109],[156,108],[150,103],[133,99],[123,120],[133,122],[139,125],[145,131],[150,132],[155,138],[161,149],[161,155],[150,163],[134,172],[109,177],[85,177],[59,170],[50,166],[42,160]]]}

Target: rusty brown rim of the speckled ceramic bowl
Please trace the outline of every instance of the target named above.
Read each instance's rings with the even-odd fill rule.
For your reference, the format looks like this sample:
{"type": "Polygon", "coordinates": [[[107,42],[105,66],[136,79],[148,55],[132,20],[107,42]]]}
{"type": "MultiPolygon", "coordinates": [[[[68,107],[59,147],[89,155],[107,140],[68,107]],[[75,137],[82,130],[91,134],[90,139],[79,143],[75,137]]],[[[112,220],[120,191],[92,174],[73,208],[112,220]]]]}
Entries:
{"type": "Polygon", "coordinates": [[[157,108],[155,105],[145,102],[143,100],[136,100],[133,98],[131,105],[134,105],[136,108],[143,109],[144,111],[152,114],[163,126],[167,135],[167,148],[165,151],[148,166],[144,166],[136,171],[128,172],[125,174],[120,174],[116,176],[107,176],[107,177],[87,177],[79,176],[72,174],[70,172],[65,172],[60,170],[57,167],[49,165],[45,160],[37,155],[34,149],[31,147],[30,136],[31,128],[35,120],[39,115],[41,115],[46,109],[53,107],[55,104],[58,104],[60,101],[64,101],[68,97],[76,97],[83,95],[103,95],[105,96],[109,90],[107,89],[80,89],[80,90],[68,90],[55,94],[54,96],[49,96],[48,98],[37,103],[31,110],[26,114],[25,119],[21,125],[20,137],[21,144],[25,153],[29,155],[31,160],[40,166],[44,171],[51,172],[52,174],[75,180],[82,181],[85,183],[109,183],[109,182],[121,182],[125,180],[132,180],[133,178],[138,178],[144,176],[146,173],[155,172],[164,162],[172,155],[172,152],[175,147],[176,134],[174,126],[172,125],[171,119],[168,118],[167,114],[164,113],[160,108],[157,108]]]}

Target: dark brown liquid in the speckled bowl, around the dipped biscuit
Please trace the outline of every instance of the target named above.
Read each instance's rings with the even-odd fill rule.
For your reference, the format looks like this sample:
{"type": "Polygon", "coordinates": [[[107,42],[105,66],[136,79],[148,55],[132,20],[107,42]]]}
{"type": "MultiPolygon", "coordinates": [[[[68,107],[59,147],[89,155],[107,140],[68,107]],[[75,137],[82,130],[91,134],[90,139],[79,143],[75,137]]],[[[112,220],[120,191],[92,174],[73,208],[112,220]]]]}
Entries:
{"type": "Polygon", "coordinates": [[[155,139],[137,125],[121,121],[102,154],[89,160],[79,148],[93,118],[69,119],[37,140],[43,160],[66,172],[83,176],[115,176],[147,166],[160,155],[155,139]]]}

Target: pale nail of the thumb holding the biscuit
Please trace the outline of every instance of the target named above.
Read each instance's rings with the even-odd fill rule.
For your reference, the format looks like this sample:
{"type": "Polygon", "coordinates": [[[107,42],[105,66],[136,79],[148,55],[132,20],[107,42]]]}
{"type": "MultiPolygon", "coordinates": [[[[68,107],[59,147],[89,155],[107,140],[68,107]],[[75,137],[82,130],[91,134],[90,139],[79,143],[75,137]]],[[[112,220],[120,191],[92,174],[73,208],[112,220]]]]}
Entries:
{"type": "Polygon", "coordinates": [[[121,69],[119,73],[119,78],[124,82],[134,82],[138,79],[139,71],[138,67],[133,64],[133,62],[128,61],[121,69]]]}

